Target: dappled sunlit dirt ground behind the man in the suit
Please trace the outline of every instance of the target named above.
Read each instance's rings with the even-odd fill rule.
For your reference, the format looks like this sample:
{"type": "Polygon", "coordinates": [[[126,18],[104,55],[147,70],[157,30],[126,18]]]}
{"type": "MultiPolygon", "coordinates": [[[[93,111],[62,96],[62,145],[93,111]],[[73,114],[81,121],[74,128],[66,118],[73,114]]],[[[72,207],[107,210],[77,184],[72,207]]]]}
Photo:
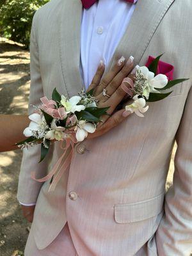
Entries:
{"type": "MultiPolygon", "coordinates": [[[[29,52],[0,38],[1,114],[27,113],[29,79],[29,52]]],[[[23,255],[28,237],[29,224],[22,218],[16,198],[21,157],[20,150],[0,154],[1,256],[23,255]]],[[[172,175],[173,161],[168,175],[168,186],[172,184],[172,175]]]]}

